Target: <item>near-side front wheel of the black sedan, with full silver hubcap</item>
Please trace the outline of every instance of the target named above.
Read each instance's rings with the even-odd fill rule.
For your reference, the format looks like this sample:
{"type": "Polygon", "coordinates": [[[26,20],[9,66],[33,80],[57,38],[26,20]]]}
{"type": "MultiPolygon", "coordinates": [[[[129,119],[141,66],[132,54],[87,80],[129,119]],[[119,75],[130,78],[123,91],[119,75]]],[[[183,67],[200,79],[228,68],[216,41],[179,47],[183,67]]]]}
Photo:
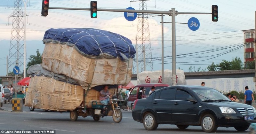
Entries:
{"type": "Polygon", "coordinates": [[[212,116],[212,114],[206,114],[203,116],[201,126],[204,132],[211,133],[217,130],[215,118],[212,116]]]}

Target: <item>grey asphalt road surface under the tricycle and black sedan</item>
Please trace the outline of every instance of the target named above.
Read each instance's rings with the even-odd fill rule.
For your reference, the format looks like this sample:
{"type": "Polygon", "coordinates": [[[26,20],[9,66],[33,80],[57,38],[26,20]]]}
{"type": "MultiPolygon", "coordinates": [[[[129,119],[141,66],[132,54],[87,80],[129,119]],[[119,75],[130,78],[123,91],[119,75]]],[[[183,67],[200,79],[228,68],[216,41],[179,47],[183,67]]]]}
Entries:
{"type": "MultiPolygon", "coordinates": [[[[41,109],[29,111],[23,105],[23,112],[14,113],[11,107],[2,107],[0,110],[0,130],[56,130],[56,134],[198,134],[204,133],[201,126],[189,126],[185,130],[178,129],[175,125],[159,125],[154,131],[145,130],[143,124],[132,119],[131,111],[123,112],[123,119],[115,123],[111,116],[101,118],[96,122],[92,117],[78,117],[76,122],[69,120],[69,113],[43,112],[41,109]]],[[[217,133],[245,134],[247,131],[239,132],[233,127],[219,127],[217,133]]],[[[0,132],[1,134],[1,132],[0,132]]]]}

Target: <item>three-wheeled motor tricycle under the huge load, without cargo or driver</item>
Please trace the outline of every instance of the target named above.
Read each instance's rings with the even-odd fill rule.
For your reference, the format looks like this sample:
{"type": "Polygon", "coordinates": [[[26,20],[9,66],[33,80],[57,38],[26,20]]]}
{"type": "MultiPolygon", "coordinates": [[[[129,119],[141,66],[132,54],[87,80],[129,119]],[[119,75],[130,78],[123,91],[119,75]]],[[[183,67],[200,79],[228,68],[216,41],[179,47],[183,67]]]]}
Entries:
{"type": "Polygon", "coordinates": [[[70,120],[76,121],[78,116],[92,116],[94,121],[99,121],[101,117],[112,116],[114,122],[121,122],[123,115],[118,106],[119,100],[108,95],[107,97],[109,98],[108,105],[102,105],[99,100],[94,100],[91,102],[92,106],[79,106],[75,110],[70,111],[70,120]]]}

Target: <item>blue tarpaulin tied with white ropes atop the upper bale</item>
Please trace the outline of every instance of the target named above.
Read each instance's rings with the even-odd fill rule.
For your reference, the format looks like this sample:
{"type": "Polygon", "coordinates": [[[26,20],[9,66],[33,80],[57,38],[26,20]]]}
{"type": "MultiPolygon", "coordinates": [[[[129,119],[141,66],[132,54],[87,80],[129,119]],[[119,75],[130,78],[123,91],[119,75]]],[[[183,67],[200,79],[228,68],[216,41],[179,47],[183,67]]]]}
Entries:
{"type": "Polygon", "coordinates": [[[105,30],[94,28],[51,28],[44,34],[44,43],[60,43],[91,59],[120,58],[127,61],[136,53],[131,40],[105,30]]]}

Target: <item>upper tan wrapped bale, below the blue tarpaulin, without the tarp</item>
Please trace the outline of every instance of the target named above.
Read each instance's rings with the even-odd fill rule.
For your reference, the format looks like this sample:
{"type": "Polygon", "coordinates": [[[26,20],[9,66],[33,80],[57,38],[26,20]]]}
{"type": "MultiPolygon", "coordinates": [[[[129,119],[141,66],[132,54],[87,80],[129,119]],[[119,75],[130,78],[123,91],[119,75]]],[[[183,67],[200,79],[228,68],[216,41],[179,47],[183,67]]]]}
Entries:
{"type": "Polygon", "coordinates": [[[45,43],[43,68],[76,80],[84,89],[89,85],[127,85],[132,77],[132,61],[114,59],[90,59],[74,46],[45,43]]]}

